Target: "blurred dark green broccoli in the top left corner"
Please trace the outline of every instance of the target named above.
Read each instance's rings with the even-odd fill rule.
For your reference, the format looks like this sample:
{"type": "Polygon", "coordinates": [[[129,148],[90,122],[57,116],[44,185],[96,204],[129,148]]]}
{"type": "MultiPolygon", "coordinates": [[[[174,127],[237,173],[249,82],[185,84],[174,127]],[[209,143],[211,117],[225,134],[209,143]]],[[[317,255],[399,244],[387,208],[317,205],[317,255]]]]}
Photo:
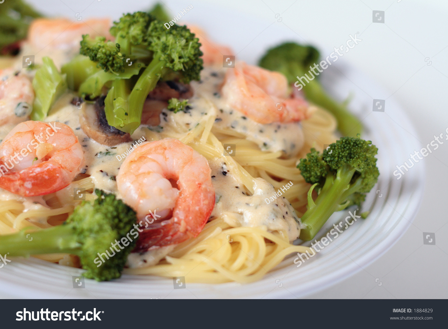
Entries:
{"type": "Polygon", "coordinates": [[[2,2],[0,4],[1,53],[9,54],[11,51],[18,50],[18,42],[26,38],[30,21],[37,17],[42,17],[42,15],[22,0],[2,2]],[[16,43],[17,47],[11,47],[16,43]]]}

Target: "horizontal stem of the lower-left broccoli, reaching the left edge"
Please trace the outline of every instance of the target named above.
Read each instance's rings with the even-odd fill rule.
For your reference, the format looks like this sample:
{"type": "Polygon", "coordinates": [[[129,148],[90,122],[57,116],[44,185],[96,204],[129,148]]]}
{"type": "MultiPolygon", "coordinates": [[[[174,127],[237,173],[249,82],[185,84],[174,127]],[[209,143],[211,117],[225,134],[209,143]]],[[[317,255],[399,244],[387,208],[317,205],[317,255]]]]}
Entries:
{"type": "Polygon", "coordinates": [[[0,254],[26,257],[59,252],[76,254],[81,250],[81,244],[76,241],[73,233],[71,225],[59,225],[29,235],[24,230],[16,234],[1,235],[0,254]]]}

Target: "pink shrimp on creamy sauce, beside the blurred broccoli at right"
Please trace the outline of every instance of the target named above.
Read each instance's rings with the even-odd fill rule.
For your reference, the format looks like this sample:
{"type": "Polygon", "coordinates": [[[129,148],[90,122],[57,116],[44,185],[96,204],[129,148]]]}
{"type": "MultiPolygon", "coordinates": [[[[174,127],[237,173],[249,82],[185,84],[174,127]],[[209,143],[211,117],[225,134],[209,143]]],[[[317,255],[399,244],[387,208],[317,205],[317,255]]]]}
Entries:
{"type": "Polygon", "coordinates": [[[283,74],[244,62],[227,69],[222,93],[230,106],[258,123],[301,121],[312,113],[302,97],[289,95],[283,74]]]}

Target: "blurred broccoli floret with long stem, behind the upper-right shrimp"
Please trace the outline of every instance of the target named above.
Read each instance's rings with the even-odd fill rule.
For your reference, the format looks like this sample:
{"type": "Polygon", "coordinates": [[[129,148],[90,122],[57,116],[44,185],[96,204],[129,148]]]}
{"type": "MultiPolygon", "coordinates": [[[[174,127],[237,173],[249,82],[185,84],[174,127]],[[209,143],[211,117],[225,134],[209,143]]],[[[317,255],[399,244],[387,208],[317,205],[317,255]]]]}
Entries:
{"type": "MultiPolygon", "coordinates": [[[[289,42],[271,48],[259,61],[265,69],[283,73],[290,84],[297,82],[310,70],[311,65],[319,63],[319,51],[311,46],[289,42]]],[[[294,85],[294,87],[299,87],[294,85]]],[[[361,122],[344,105],[334,101],[323,89],[317,78],[303,85],[302,90],[311,102],[326,108],[337,120],[339,131],[345,136],[356,137],[361,133],[361,122]]]]}

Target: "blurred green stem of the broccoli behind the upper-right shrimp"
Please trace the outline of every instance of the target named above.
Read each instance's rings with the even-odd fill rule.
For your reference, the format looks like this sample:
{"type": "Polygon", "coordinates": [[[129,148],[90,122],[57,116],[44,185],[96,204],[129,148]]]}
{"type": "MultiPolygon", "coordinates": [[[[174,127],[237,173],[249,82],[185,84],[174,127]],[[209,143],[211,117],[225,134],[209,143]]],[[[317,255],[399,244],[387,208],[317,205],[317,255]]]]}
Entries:
{"type": "Polygon", "coordinates": [[[330,111],[337,120],[337,128],[344,136],[356,137],[361,134],[361,122],[350,113],[343,105],[336,103],[317,81],[310,81],[304,87],[303,91],[307,99],[315,104],[322,106],[330,111]]]}

